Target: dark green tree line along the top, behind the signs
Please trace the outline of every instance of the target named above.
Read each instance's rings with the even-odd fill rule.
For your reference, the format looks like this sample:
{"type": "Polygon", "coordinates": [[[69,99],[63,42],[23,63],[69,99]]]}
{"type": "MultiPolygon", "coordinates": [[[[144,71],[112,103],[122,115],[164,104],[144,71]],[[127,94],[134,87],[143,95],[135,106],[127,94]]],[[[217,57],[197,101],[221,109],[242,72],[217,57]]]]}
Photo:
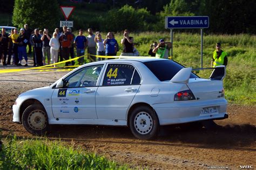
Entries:
{"type": "Polygon", "coordinates": [[[256,32],[254,0],[107,0],[105,4],[88,4],[85,1],[70,4],[70,1],[57,0],[3,1],[4,5],[1,5],[0,11],[10,12],[10,6],[14,6],[12,23],[19,27],[28,23],[31,28],[43,28],[45,25],[49,29],[55,28],[59,25],[60,18],[63,18],[59,5],[64,4],[75,5],[76,10],[95,12],[93,18],[72,15],[70,20],[74,21],[75,30],[93,27],[100,31],[164,31],[165,16],[209,16],[210,27],[205,29],[205,32],[256,32]],[[103,10],[106,11],[105,15],[97,15],[98,11],[103,10]]]}

